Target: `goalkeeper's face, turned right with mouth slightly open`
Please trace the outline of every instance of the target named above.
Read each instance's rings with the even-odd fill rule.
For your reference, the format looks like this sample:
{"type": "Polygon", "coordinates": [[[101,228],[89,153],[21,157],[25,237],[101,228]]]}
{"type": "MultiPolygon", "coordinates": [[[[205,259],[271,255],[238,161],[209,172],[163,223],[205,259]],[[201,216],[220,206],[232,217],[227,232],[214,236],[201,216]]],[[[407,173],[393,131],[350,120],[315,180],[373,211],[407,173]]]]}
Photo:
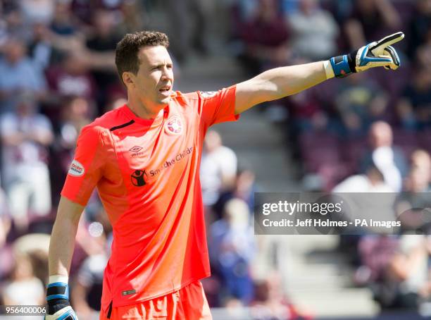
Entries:
{"type": "Polygon", "coordinates": [[[173,63],[163,46],[148,46],[139,50],[139,70],[134,75],[133,90],[149,109],[160,108],[170,101],[173,87],[173,63]]]}

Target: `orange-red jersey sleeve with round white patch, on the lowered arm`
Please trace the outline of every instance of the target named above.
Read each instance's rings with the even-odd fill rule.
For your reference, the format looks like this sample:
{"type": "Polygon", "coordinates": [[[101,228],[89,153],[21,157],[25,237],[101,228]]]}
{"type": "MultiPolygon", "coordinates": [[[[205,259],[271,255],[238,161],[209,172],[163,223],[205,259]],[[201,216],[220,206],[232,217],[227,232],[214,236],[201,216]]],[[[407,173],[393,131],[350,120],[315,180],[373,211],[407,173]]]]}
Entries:
{"type": "Polygon", "coordinates": [[[85,206],[99,182],[106,156],[101,131],[94,126],[82,129],[77,140],[75,158],[70,164],[61,195],[85,206]]]}

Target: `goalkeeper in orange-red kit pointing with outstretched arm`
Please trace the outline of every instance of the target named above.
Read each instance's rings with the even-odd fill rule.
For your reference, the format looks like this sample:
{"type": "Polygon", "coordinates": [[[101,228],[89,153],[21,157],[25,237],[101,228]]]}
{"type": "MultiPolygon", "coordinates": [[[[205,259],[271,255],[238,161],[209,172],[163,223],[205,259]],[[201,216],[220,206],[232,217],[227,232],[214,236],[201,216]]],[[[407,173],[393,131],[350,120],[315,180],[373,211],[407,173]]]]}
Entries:
{"type": "Polygon", "coordinates": [[[94,187],[113,225],[100,319],[211,319],[199,183],[208,128],[256,104],[369,68],[395,70],[395,33],[328,61],[268,70],[218,92],[173,91],[168,37],[127,34],[115,50],[127,104],[82,129],[49,247],[46,319],[77,319],[68,273],[77,224],[94,187]]]}

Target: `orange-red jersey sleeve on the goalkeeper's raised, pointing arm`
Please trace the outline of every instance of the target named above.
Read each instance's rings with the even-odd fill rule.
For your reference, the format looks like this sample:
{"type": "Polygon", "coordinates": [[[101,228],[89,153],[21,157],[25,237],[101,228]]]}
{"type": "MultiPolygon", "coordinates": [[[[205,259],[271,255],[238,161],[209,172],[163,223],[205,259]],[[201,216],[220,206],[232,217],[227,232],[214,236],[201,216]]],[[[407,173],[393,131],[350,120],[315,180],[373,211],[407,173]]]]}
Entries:
{"type": "Polygon", "coordinates": [[[217,92],[198,92],[202,101],[201,121],[206,127],[239,118],[235,115],[235,92],[235,85],[217,92]]]}

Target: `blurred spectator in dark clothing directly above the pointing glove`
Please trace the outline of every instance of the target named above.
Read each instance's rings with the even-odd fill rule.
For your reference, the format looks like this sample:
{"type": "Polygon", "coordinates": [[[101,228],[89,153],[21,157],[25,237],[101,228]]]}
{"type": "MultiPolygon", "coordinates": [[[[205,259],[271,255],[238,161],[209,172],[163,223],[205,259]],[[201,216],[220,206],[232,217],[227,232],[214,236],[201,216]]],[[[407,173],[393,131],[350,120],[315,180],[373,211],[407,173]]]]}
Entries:
{"type": "Polygon", "coordinates": [[[389,0],[356,0],[345,32],[351,48],[399,29],[401,18],[389,0]]]}

